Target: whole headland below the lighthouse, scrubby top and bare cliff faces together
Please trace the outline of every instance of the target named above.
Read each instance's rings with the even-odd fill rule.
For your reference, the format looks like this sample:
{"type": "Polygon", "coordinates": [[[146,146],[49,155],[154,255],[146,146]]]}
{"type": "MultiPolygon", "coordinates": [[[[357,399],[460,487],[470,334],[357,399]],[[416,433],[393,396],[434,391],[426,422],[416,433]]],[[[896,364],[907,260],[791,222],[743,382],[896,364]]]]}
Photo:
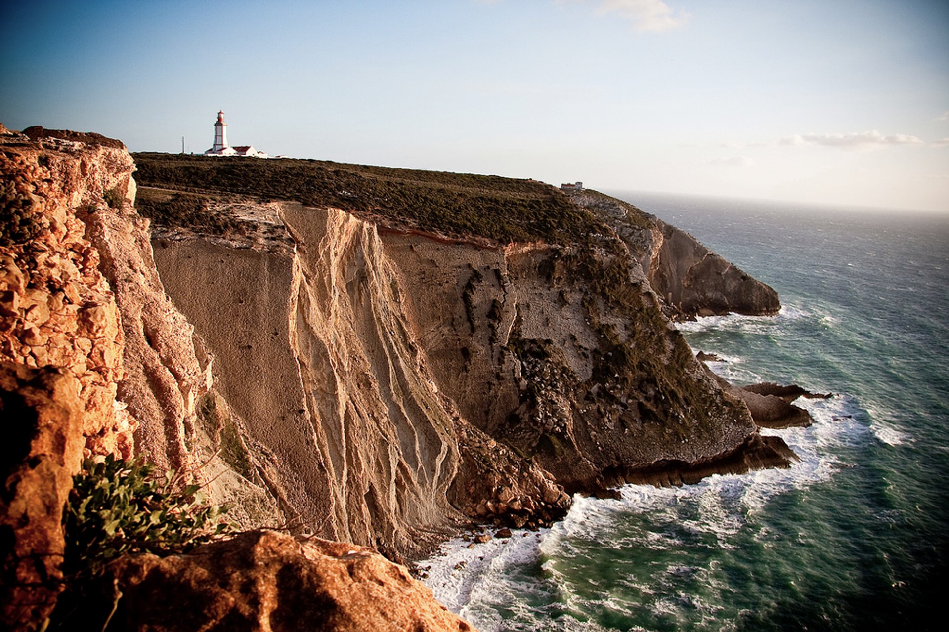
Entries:
{"type": "Polygon", "coordinates": [[[136,159],[165,287],[273,455],[271,491],[307,524],[331,516],[326,536],[414,555],[462,515],[543,524],[558,486],[789,462],[666,317],[773,313],[776,293],[631,205],[500,177],[136,159]]]}

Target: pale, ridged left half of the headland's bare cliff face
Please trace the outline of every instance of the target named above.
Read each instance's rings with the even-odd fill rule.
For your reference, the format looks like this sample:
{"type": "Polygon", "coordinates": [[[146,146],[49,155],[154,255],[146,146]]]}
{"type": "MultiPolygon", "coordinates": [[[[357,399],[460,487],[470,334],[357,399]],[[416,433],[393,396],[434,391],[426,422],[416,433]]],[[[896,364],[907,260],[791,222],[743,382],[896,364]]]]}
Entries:
{"type": "MultiPolygon", "coordinates": [[[[374,225],[299,205],[256,216],[292,247],[169,234],[155,251],[165,288],[212,349],[215,381],[260,446],[285,516],[327,537],[416,552],[461,517],[448,494],[472,462],[459,437],[473,454],[493,441],[438,392],[374,225]]],[[[505,480],[538,510],[566,507],[530,464],[505,480]]]]}

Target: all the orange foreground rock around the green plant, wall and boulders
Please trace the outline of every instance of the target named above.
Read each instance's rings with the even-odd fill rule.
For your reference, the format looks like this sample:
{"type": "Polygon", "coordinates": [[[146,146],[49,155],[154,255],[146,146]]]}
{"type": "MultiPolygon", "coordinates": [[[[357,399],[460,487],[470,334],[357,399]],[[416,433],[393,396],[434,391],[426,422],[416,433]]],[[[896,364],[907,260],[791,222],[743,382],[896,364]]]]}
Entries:
{"type": "Polygon", "coordinates": [[[248,629],[472,629],[376,552],[273,532],[174,558],[121,557],[53,612],[72,581],[64,505],[83,456],[177,468],[217,502],[234,501],[244,525],[285,518],[254,467],[266,449],[244,442],[214,391],[213,357],[164,292],[121,142],[25,132],[0,125],[2,625],[46,629],[52,616],[57,629],[181,629],[195,613],[220,613],[221,625],[243,618],[248,629]],[[241,595],[252,586],[255,599],[225,612],[235,597],[208,592],[214,573],[241,595]],[[175,596],[150,608],[157,592],[175,596]]]}

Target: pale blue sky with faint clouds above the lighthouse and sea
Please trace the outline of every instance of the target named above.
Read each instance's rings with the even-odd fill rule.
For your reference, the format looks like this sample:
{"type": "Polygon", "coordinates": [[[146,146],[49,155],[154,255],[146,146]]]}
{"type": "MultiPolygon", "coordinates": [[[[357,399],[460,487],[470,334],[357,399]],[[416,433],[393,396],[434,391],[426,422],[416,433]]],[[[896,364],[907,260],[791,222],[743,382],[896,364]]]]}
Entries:
{"type": "Polygon", "coordinates": [[[949,213],[946,0],[6,3],[0,122],[949,213]]]}

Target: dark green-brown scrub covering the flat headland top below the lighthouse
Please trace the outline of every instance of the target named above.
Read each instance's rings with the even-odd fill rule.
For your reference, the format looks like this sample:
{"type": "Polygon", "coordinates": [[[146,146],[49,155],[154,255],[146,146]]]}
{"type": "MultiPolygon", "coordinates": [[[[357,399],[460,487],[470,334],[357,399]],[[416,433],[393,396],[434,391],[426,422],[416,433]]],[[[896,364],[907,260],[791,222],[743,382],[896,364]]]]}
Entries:
{"type": "MultiPolygon", "coordinates": [[[[139,183],[213,199],[222,194],[294,200],[381,216],[422,231],[498,242],[576,243],[603,224],[543,182],[345,164],[328,160],[133,154],[139,183]]],[[[163,204],[164,202],[162,202],[163,204]]],[[[158,215],[152,202],[146,213],[158,215]]],[[[168,215],[164,221],[178,221],[168,215]]],[[[158,221],[158,220],[157,220],[158,221]]]]}

